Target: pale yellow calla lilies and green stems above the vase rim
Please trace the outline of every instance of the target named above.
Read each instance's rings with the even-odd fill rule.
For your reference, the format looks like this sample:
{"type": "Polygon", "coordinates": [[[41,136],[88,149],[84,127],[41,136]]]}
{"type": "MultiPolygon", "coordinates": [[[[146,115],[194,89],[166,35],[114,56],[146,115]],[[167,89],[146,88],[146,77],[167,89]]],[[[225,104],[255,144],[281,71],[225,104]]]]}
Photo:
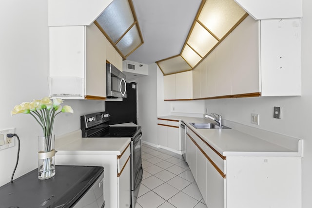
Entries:
{"type": "Polygon", "coordinates": [[[41,100],[34,100],[32,102],[23,102],[16,105],[11,111],[11,115],[18,113],[31,114],[39,123],[43,130],[44,136],[51,136],[53,130],[54,118],[59,113],[74,113],[72,107],[65,105],[61,106],[63,100],[54,98],[53,101],[44,97],[41,100]]]}

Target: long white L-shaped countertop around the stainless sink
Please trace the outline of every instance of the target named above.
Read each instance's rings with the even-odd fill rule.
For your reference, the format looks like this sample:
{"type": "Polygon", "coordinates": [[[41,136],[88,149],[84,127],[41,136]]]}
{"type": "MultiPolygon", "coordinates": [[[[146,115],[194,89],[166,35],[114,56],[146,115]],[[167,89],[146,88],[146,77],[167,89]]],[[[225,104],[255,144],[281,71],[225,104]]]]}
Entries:
{"type": "MultiPolygon", "coordinates": [[[[158,118],[183,121],[189,129],[196,132],[224,156],[302,156],[302,148],[300,147],[302,140],[299,139],[293,138],[293,144],[294,146],[297,145],[297,148],[286,148],[276,144],[274,140],[272,141],[275,143],[255,136],[258,134],[248,134],[235,129],[196,129],[189,124],[215,122],[211,119],[171,115],[159,116],[158,118]]],[[[287,139],[289,140],[289,138],[287,139]]]]}

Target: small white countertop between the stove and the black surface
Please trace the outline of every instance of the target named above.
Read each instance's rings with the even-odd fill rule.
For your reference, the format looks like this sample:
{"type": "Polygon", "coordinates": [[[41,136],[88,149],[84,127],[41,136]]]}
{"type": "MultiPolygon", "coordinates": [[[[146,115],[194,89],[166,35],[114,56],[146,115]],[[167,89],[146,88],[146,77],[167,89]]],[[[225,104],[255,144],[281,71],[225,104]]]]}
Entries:
{"type": "Polygon", "coordinates": [[[57,154],[119,155],[131,138],[81,138],[81,130],[56,137],[57,154]]]}

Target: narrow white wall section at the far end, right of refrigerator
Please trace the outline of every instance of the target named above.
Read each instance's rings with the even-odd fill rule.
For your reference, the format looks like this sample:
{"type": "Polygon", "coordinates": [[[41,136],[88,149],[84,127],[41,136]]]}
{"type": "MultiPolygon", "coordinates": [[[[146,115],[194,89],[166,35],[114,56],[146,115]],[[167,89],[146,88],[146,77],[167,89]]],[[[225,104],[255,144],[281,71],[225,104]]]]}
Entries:
{"type": "Polygon", "coordinates": [[[157,69],[148,66],[148,76],[137,78],[138,125],[142,126],[142,140],[157,144],[157,69]]]}

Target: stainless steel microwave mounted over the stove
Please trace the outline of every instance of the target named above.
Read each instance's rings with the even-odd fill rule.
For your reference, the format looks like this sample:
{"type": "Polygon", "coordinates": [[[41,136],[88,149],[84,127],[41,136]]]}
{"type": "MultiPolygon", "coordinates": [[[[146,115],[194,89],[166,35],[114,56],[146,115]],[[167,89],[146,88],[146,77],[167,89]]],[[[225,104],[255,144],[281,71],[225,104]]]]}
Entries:
{"type": "Polygon", "coordinates": [[[127,97],[126,76],[110,63],[106,63],[106,97],[127,97]]]}

